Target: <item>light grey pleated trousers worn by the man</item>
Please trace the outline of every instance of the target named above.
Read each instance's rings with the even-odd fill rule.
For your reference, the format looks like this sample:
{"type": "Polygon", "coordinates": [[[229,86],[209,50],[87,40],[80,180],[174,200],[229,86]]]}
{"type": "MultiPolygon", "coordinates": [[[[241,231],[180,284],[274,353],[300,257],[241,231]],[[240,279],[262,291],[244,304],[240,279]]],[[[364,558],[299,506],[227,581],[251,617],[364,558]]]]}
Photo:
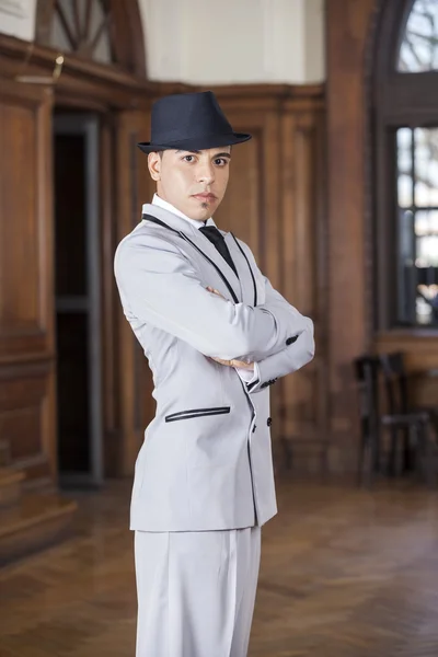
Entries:
{"type": "Polygon", "coordinates": [[[136,531],[137,657],[246,657],[261,529],[136,531]]]}

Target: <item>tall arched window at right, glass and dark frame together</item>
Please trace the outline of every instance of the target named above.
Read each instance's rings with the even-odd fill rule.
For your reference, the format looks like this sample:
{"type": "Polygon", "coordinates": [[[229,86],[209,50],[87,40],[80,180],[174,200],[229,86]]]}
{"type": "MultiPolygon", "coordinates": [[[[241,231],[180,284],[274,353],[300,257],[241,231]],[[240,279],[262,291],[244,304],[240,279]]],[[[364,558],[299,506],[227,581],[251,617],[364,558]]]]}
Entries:
{"type": "Polygon", "coordinates": [[[438,330],[438,2],[392,0],[374,61],[380,330],[438,330]]]}

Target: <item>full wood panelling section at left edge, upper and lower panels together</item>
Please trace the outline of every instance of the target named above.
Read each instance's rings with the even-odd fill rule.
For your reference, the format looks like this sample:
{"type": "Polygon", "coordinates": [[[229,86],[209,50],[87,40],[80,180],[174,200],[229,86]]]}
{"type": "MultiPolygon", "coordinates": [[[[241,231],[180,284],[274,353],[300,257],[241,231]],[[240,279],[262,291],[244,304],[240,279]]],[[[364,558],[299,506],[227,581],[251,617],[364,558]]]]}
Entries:
{"type": "Polygon", "coordinates": [[[51,95],[0,83],[0,438],[34,483],[56,476],[51,95]]]}

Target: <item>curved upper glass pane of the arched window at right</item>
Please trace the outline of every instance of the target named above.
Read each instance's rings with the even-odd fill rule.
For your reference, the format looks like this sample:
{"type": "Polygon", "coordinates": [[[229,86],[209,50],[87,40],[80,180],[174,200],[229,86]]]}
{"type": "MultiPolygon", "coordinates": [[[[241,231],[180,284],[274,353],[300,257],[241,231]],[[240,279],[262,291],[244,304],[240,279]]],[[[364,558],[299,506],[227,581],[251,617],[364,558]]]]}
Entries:
{"type": "Polygon", "coordinates": [[[404,73],[438,70],[437,0],[415,0],[400,47],[397,70],[404,73]]]}

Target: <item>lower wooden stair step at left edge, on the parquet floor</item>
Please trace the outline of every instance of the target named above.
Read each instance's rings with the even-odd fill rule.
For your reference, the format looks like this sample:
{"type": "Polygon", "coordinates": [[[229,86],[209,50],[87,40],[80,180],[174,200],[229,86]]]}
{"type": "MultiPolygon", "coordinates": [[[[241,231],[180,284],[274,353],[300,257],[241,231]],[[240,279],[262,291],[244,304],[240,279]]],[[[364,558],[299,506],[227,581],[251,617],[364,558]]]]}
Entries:
{"type": "Polygon", "coordinates": [[[67,538],[77,508],[56,494],[26,493],[18,505],[0,509],[0,565],[67,538]]]}

